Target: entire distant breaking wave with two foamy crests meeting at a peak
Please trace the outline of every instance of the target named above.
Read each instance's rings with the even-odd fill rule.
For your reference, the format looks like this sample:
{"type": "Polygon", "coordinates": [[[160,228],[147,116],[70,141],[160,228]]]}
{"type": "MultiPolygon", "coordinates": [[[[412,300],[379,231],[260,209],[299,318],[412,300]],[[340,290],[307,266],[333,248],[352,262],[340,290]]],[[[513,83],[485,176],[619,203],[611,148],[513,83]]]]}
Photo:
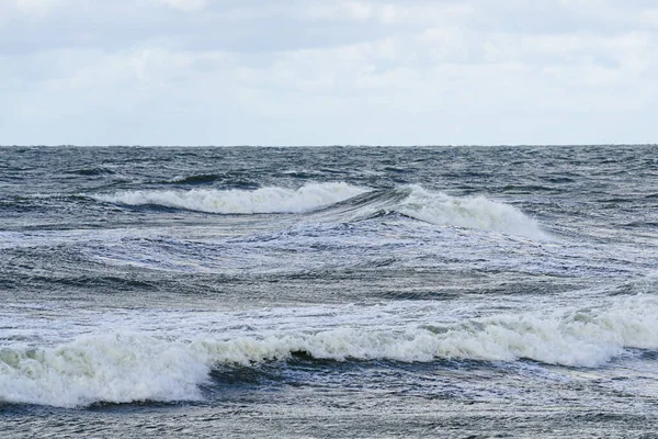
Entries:
{"type": "Polygon", "coordinates": [[[262,188],[248,190],[124,191],[94,195],[95,200],[126,205],[161,205],[218,213],[306,213],[326,209],[341,219],[371,217],[379,211],[436,224],[495,230],[534,238],[546,238],[538,223],[518,209],[484,196],[451,196],[407,185],[372,191],[342,182],[309,183],[297,190],[262,188]]]}

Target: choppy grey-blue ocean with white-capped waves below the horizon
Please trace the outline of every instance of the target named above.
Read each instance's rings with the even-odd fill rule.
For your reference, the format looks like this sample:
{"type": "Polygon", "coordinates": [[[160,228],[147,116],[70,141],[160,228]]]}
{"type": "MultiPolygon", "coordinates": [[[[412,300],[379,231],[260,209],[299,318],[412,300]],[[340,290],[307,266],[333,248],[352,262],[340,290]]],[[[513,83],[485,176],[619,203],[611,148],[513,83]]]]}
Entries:
{"type": "Polygon", "coordinates": [[[0,437],[658,437],[658,146],[2,147],[0,437]]]}

